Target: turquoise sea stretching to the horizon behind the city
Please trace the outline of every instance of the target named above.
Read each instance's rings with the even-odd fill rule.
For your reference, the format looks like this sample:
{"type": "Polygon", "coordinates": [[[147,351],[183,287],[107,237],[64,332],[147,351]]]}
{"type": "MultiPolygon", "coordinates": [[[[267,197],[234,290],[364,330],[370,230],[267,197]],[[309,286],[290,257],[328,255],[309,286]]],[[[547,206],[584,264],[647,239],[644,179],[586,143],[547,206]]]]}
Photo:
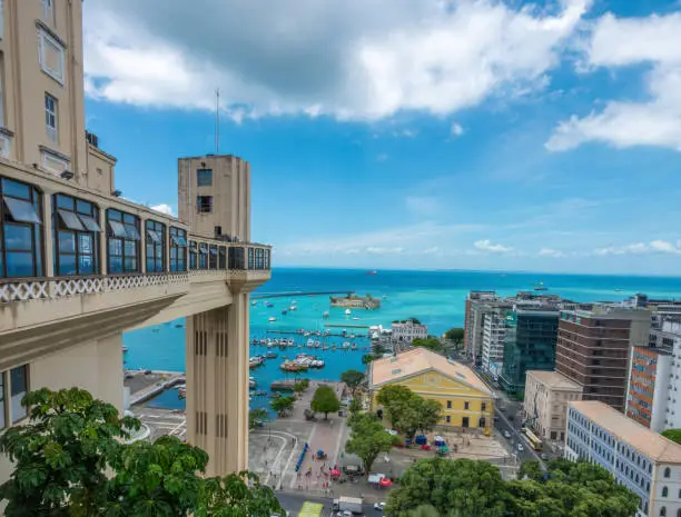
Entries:
{"type": "MultiPolygon", "coordinates": [[[[272,298],[268,301],[274,307],[267,308],[264,300],[258,300],[250,307],[251,337],[276,337],[268,330],[289,331],[297,329],[324,329],[324,324],[340,325],[348,334],[352,325],[389,326],[395,319],[416,317],[428,326],[431,334],[440,335],[452,327],[463,326],[464,300],[470,290],[496,290],[501,296],[513,295],[519,290],[532,290],[542,281],[550,294],[556,294],[575,301],[616,301],[636,292],[645,292],[651,298],[680,298],[681,278],[669,277],[634,277],[634,276],[592,276],[592,275],[556,275],[527,272],[491,272],[491,271],[389,271],[378,270],[376,275],[367,275],[355,269],[303,269],[275,268],[272,280],[261,286],[254,295],[276,292],[307,291],[347,291],[357,295],[371,294],[383,298],[381,309],[366,311],[353,310],[346,316],[344,309],[329,308],[328,295],[290,296],[272,298]],[[297,310],[282,310],[296,301],[297,310]],[[329,311],[329,319],[324,320],[324,311],[329,311]],[[275,317],[276,321],[268,319],[275,317]],[[353,318],[359,318],[358,320],[353,318]]],[[[184,371],[185,369],[185,329],[178,328],[182,321],[160,325],[128,332],[124,337],[129,348],[126,354],[126,367],[149,368],[158,370],[184,371]]],[[[366,329],[356,329],[358,349],[355,351],[323,351],[320,349],[287,349],[277,350],[279,357],[269,359],[251,375],[258,381],[258,389],[267,389],[273,380],[285,378],[278,368],[283,356],[294,357],[298,352],[309,352],[322,357],[326,366],[320,370],[309,370],[306,377],[318,379],[337,379],[340,372],[348,368],[362,369],[362,355],[366,351],[359,348],[368,345],[366,329]]],[[[307,338],[297,337],[297,342],[307,338]]],[[[340,345],[347,339],[329,338],[327,344],[340,345]]],[[[265,347],[251,347],[251,355],[264,355],[265,347]]],[[[254,397],[253,407],[266,407],[268,399],[254,397]]],[[[177,406],[177,397],[170,391],[164,400],[156,400],[164,406],[177,406]]],[[[154,404],[154,402],[152,402],[154,404]]]]}

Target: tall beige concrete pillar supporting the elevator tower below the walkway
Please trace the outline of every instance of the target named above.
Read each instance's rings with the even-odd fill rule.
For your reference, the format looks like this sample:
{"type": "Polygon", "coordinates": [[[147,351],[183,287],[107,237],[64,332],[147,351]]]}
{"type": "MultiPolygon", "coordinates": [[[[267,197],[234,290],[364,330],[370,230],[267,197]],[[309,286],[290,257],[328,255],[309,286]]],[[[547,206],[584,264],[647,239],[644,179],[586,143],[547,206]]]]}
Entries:
{"type": "Polygon", "coordinates": [[[207,474],[248,466],[248,295],[187,318],[187,440],[210,457],[207,474]]]}

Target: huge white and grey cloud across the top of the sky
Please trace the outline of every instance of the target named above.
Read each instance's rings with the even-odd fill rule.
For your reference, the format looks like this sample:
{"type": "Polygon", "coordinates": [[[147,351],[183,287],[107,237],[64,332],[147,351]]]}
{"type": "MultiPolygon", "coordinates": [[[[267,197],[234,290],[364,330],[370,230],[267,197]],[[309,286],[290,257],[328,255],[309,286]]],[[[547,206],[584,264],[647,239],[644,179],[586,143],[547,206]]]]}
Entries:
{"type": "Polygon", "coordinates": [[[210,110],[219,87],[235,118],[446,115],[542,88],[590,0],[561,3],[544,16],[497,0],[85,2],[86,90],[210,110]]]}

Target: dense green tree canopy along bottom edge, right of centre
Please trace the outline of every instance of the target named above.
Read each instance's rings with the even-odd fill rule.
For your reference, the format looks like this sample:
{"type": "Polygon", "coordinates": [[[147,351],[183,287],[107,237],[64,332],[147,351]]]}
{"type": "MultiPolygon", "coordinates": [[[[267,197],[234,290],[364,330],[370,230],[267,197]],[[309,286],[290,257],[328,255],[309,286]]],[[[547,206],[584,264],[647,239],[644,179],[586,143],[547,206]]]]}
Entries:
{"type": "Polygon", "coordinates": [[[537,467],[523,465],[523,479],[504,481],[485,461],[421,460],[404,473],[385,511],[396,517],[626,517],[636,511],[638,496],[596,465],[560,459],[549,463],[546,473],[537,467]],[[433,509],[420,510],[425,505],[433,509]]]}

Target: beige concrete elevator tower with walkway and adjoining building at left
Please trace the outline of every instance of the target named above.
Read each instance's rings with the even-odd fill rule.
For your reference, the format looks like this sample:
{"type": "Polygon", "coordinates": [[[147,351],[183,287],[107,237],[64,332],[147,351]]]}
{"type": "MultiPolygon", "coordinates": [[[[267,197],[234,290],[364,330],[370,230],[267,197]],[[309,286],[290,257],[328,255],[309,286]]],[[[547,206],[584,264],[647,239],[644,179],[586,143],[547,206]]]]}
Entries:
{"type": "Polygon", "coordinates": [[[180,160],[179,219],[121,199],[85,128],[81,10],[0,1],[0,428],[40,387],[122,410],[122,332],[187,317],[188,440],[210,474],[244,469],[248,294],[270,277],[270,248],[250,242],[250,166],[180,160]]]}

